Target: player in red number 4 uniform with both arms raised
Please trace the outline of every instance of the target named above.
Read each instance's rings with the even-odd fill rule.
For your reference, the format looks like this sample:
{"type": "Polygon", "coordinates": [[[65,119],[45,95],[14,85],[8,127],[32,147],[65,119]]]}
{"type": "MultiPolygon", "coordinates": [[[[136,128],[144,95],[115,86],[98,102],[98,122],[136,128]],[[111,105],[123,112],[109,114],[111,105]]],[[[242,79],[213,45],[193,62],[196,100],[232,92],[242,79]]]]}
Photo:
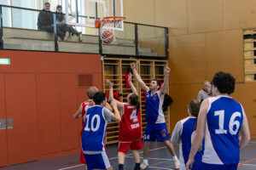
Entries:
{"type": "Polygon", "coordinates": [[[119,102],[113,99],[113,83],[107,81],[109,85],[110,100],[117,103],[121,112],[121,122],[119,123],[119,170],[124,170],[125,153],[131,148],[131,152],[136,163],[134,170],[140,170],[140,154],[138,150],[143,149],[142,141],[142,125],[140,103],[137,96],[137,89],[131,81],[131,73],[128,77],[128,82],[131,87],[131,94],[127,96],[127,103],[119,102]]]}

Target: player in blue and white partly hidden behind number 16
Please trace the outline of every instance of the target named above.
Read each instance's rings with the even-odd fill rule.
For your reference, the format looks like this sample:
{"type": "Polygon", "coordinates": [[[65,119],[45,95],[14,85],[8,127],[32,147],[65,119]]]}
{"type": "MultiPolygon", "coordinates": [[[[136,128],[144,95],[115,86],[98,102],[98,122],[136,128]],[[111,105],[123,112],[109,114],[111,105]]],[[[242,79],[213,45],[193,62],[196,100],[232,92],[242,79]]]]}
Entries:
{"type": "MultiPolygon", "coordinates": [[[[179,144],[179,170],[186,170],[186,162],[189,160],[192,139],[195,134],[197,116],[201,103],[192,99],[188,105],[189,116],[177,122],[172,132],[171,142],[179,144]]],[[[195,155],[195,162],[192,170],[197,170],[201,162],[202,150],[195,155]]]]}

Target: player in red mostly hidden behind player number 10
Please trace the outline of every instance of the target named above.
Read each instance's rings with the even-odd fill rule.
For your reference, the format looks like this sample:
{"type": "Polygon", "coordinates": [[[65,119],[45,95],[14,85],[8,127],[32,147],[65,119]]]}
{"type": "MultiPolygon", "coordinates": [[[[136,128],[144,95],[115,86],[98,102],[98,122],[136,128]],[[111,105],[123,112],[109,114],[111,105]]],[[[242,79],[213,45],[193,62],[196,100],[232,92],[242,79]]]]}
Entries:
{"type": "MultiPolygon", "coordinates": [[[[87,96],[89,99],[84,101],[84,103],[82,103],[79,106],[79,110],[73,115],[74,119],[79,118],[79,116],[84,117],[85,109],[91,105],[94,105],[94,102],[92,99],[93,99],[94,94],[96,94],[96,92],[98,92],[98,91],[99,91],[98,88],[96,88],[95,86],[91,86],[90,88],[88,88],[87,96]]],[[[82,127],[84,128],[84,118],[82,118],[82,127]]],[[[83,129],[81,130],[81,133],[80,133],[81,138],[82,138],[82,134],[83,134],[83,129]]],[[[81,150],[81,152],[80,152],[80,163],[85,164],[85,169],[86,169],[86,162],[84,160],[83,150],[81,150]]]]}

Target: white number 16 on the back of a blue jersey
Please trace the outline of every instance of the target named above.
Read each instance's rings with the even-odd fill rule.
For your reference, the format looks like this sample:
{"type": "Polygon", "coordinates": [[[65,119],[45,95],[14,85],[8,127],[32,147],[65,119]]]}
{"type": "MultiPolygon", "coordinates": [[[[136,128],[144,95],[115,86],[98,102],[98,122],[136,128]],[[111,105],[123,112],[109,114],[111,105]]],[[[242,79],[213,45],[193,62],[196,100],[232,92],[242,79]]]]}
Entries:
{"type": "MultiPolygon", "coordinates": [[[[227,133],[227,130],[224,129],[224,110],[222,111],[214,111],[214,116],[218,116],[218,129],[215,129],[216,134],[225,134],[227,133]]],[[[230,117],[230,133],[236,135],[238,132],[238,129],[240,127],[240,122],[235,121],[236,117],[241,117],[241,113],[236,111],[235,113],[232,114],[230,117]],[[236,126],[236,130],[234,131],[234,127],[236,126]]]]}

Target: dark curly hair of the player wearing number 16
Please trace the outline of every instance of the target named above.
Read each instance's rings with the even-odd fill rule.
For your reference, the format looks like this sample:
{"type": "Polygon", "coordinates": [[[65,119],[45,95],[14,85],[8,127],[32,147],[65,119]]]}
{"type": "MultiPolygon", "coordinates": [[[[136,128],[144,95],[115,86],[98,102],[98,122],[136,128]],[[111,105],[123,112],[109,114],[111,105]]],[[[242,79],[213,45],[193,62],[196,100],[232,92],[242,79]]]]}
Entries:
{"type": "Polygon", "coordinates": [[[232,94],[235,90],[236,78],[230,73],[218,71],[214,77],[212,77],[213,86],[218,88],[218,92],[221,94],[232,94]]]}

